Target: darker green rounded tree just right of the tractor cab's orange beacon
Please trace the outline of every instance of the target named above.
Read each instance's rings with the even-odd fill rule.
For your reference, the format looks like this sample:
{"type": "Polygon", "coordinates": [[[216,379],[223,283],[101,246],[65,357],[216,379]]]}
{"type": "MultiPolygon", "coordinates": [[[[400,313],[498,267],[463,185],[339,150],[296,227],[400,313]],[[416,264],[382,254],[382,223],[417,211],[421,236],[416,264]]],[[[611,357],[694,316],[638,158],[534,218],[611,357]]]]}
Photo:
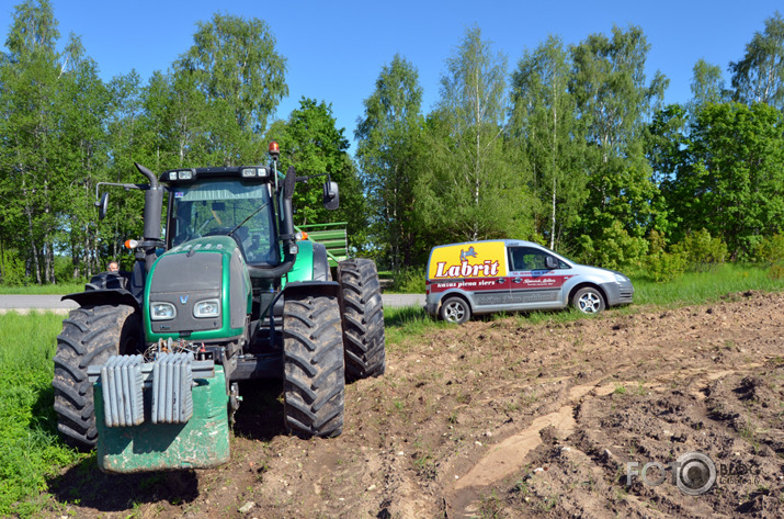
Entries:
{"type": "Polygon", "coordinates": [[[362,184],[343,128],[336,127],[332,106],[303,98],[287,121],[275,122],[268,132],[269,140],[281,147],[280,170],[294,166],[298,177],[329,173],[340,187],[340,208],[323,207],[321,184],[327,177],[300,181],[294,192],[295,225],[344,221],[349,224],[351,245],[362,246],[366,227],[362,184]]]}

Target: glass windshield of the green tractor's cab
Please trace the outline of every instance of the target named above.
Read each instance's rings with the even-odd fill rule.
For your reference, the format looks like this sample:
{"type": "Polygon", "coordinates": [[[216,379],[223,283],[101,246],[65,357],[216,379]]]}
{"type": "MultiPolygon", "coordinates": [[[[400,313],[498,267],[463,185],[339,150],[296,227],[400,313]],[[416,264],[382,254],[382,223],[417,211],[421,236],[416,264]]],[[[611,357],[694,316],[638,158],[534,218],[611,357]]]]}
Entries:
{"type": "Polygon", "coordinates": [[[274,213],[269,184],[200,182],[178,185],[172,189],[171,196],[173,233],[170,247],[202,236],[228,235],[242,224],[234,235],[248,262],[280,262],[277,247],[274,247],[274,213]],[[250,219],[242,223],[249,216],[250,219]]]}

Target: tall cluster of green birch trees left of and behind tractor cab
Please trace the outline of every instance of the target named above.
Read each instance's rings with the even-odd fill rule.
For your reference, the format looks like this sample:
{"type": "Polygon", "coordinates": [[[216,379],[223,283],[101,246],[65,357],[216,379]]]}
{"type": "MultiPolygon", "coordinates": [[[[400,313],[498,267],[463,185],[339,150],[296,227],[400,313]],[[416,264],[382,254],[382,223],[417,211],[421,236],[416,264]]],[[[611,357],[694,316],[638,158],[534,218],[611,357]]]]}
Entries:
{"type": "Polygon", "coordinates": [[[215,15],[147,86],[133,71],[105,83],[77,36],[63,50],[58,42],[48,0],[15,8],[0,60],[0,250],[14,259],[0,282],[19,261],[30,280],[55,281],[58,253],[71,258],[75,279],[110,258],[129,268],[122,242],[141,233],[143,196],[113,192],[99,223],[98,183],[141,181],[134,161],[158,172],[258,162],[260,135],[287,93],[285,59],[259,20],[215,15]]]}

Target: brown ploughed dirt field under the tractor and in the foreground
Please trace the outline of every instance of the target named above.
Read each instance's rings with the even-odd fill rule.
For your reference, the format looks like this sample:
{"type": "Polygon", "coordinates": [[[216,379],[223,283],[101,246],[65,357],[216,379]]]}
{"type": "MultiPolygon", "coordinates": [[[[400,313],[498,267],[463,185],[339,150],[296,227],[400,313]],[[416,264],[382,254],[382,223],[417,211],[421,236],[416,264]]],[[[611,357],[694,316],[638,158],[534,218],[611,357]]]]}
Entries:
{"type": "Polygon", "coordinates": [[[280,385],[243,387],[230,464],[86,463],[52,482],[53,517],[784,517],[783,325],[784,295],[758,293],[471,321],[390,347],[385,376],[346,388],[337,439],[285,435],[280,385]],[[702,495],[678,486],[711,475],[690,452],[714,462],[702,495]]]}

